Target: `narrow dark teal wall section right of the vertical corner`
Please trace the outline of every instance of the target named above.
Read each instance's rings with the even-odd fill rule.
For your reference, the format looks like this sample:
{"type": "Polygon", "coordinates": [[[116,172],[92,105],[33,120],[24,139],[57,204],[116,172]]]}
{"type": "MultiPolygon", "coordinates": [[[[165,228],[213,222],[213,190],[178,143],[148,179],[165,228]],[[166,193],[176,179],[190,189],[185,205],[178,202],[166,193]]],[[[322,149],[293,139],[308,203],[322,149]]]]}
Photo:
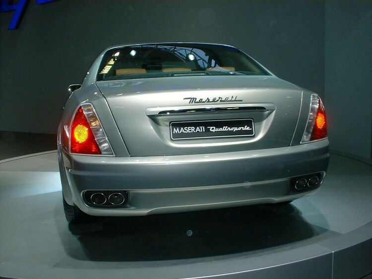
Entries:
{"type": "Polygon", "coordinates": [[[325,1],[330,148],[372,158],[372,1],[325,1]]]}

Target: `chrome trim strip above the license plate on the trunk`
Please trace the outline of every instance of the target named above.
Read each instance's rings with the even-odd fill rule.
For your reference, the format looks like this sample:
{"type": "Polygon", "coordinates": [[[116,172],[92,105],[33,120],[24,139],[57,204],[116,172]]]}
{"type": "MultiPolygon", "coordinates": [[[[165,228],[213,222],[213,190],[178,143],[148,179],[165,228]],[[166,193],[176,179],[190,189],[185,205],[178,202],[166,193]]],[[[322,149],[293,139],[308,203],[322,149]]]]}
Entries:
{"type": "Polygon", "coordinates": [[[274,104],[242,104],[226,106],[185,106],[185,107],[165,107],[165,108],[148,108],[147,116],[164,116],[164,115],[185,115],[185,114],[203,114],[203,113],[226,113],[226,112],[267,112],[275,111],[274,104]]]}

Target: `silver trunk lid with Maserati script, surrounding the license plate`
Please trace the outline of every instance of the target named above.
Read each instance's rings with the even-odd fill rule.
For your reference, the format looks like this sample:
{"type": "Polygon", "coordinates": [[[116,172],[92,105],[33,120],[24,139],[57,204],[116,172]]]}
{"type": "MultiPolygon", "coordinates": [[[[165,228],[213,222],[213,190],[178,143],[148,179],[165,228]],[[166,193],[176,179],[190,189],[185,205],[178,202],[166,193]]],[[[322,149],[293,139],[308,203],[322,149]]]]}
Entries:
{"type": "Polygon", "coordinates": [[[299,87],[275,76],[159,77],[99,81],[97,86],[131,156],[289,146],[302,99],[299,87]],[[221,123],[229,125],[234,122],[231,119],[252,119],[254,136],[171,138],[172,123],[174,127],[187,126],[180,123],[183,121],[190,121],[190,125],[192,121],[209,121],[214,125],[220,123],[215,120],[227,120],[221,123]]]}

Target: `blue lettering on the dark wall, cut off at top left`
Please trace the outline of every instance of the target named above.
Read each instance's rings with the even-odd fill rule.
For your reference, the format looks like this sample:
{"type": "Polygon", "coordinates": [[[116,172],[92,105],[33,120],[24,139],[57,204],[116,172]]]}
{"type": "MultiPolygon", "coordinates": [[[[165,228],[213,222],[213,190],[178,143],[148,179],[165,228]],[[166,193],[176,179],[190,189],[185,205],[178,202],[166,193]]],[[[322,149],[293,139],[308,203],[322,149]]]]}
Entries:
{"type": "MultiPolygon", "coordinates": [[[[18,2],[16,3],[14,3],[13,0],[0,0],[0,1],[1,1],[0,12],[14,11],[13,17],[10,20],[8,29],[11,30],[11,29],[18,28],[29,0],[18,0],[18,2]]],[[[54,2],[54,1],[57,1],[57,0],[36,0],[36,3],[38,5],[41,5],[41,4],[54,2]]]]}

